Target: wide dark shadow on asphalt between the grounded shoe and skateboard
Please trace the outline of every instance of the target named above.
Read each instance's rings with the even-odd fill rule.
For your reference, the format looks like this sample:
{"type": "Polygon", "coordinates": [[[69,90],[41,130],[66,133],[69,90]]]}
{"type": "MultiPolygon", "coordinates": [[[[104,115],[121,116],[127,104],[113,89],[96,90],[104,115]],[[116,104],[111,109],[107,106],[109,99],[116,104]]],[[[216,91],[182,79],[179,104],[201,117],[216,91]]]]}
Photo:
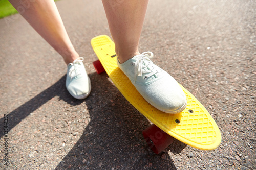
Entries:
{"type": "Polygon", "coordinates": [[[142,131],[150,122],[122,96],[108,76],[95,73],[89,77],[94,93],[86,101],[91,121],[56,170],[176,169],[168,154],[156,155],[147,147],[142,131]]]}

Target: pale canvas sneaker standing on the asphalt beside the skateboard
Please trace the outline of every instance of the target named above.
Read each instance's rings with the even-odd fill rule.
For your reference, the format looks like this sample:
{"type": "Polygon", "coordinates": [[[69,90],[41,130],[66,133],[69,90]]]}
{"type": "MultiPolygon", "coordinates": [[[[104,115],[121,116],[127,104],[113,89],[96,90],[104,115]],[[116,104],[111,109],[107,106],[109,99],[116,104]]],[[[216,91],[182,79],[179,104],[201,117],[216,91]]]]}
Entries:
{"type": "Polygon", "coordinates": [[[66,87],[76,99],[85,99],[91,92],[91,81],[82,61],[83,58],[79,57],[68,64],[66,87]]]}

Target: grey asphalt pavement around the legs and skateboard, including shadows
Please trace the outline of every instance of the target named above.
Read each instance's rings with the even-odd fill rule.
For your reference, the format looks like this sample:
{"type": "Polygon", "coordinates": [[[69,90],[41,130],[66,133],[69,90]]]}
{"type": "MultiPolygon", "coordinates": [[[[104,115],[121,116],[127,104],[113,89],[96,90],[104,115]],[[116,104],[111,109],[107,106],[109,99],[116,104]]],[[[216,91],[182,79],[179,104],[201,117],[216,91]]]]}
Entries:
{"type": "Polygon", "coordinates": [[[73,99],[66,65],[53,48],[19,14],[0,19],[2,169],[8,169],[6,153],[8,166],[18,169],[256,168],[254,1],[150,1],[140,51],[152,51],[153,61],[197,97],[222,133],[216,150],[174,140],[159,155],[143,140],[151,123],[92,65],[91,38],[110,36],[101,1],[56,4],[85,59],[92,93],[73,99]]]}

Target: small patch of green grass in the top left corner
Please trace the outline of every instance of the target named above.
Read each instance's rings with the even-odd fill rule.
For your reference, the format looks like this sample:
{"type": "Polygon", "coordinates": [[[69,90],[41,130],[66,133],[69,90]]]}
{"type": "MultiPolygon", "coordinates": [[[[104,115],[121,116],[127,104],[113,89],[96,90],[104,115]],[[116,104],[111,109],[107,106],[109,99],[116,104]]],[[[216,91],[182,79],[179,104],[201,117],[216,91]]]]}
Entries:
{"type": "Polygon", "coordinates": [[[8,0],[0,0],[0,18],[18,13],[8,0]]]}

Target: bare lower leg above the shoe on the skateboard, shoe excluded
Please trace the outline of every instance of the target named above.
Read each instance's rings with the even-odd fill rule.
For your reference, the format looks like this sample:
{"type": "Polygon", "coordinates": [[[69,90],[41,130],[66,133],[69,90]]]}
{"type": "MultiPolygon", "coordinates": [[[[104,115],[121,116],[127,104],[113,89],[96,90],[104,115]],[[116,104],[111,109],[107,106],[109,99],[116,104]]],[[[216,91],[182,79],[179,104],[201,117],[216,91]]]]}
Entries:
{"type": "Polygon", "coordinates": [[[102,0],[120,63],[139,53],[148,0],[102,0]]]}

